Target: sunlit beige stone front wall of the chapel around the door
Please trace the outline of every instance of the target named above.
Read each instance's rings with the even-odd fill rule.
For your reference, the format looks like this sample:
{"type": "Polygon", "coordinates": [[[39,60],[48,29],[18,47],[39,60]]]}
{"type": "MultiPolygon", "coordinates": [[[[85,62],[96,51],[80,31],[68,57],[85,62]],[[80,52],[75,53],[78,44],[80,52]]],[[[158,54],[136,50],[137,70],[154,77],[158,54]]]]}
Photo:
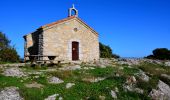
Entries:
{"type": "Polygon", "coordinates": [[[99,59],[98,36],[76,18],[43,30],[43,55],[58,55],[56,60],[72,60],[72,41],[79,42],[80,60],[99,59]]]}

